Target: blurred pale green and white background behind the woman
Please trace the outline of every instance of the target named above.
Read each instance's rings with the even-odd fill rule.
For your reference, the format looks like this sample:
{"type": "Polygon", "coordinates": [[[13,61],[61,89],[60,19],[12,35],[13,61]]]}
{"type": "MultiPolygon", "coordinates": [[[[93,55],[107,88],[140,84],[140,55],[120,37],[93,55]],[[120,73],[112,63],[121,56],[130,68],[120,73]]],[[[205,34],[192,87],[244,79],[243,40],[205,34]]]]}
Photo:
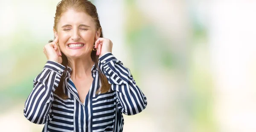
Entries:
{"type": "MultiPolygon", "coordinates": [[[[60,0],[0,0],[1,132],[23,116],[60,0]]],[[[255,0],[92,0],[148,106],[124,132],[256,132],[255,0]]]]}

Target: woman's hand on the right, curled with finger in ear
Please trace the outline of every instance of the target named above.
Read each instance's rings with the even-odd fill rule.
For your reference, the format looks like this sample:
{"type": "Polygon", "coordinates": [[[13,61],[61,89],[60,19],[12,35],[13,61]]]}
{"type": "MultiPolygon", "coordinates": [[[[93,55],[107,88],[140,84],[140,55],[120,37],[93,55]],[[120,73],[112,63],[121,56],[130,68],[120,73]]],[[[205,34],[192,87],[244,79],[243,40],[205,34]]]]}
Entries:
{"type": "Polygon", "coordinates": [[[101,57],[105,53],[112,52],[112,46],[113,43],[111,40],[104,38],[104,37],[99,37],[98,40],[95,42],[95,49],[97,49],[96,55],[99,55],[101,57]]]}

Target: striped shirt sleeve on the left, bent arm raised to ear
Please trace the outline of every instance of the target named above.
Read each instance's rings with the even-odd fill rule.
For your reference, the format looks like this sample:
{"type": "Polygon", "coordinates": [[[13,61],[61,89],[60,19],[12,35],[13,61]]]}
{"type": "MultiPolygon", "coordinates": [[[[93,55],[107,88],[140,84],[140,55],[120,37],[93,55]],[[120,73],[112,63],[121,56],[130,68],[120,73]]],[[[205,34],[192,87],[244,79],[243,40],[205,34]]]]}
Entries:
{"type": "Polygon", "coordinates": [[[53,92],[58,87],[65,67],[48,60],[42,72],[35,77],[32,92],[25,102],[24,116],[36,124],[44,124],[52,120],[51,105],[53,92]]]}

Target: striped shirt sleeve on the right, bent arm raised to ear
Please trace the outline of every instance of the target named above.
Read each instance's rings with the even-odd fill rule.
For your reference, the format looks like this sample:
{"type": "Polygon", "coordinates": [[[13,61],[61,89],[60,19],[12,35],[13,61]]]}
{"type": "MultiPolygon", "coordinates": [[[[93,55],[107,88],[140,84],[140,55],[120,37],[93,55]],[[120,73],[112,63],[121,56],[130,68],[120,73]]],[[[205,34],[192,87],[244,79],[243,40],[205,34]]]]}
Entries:
{"type": "Polygon", "coordinates": [[[117,105],[125,115],[140,113],[147,106],[147,99],[121,61],[112,53],[99,57],[99,69],[108,78],[111,89],[116,91],[117,105]]]}

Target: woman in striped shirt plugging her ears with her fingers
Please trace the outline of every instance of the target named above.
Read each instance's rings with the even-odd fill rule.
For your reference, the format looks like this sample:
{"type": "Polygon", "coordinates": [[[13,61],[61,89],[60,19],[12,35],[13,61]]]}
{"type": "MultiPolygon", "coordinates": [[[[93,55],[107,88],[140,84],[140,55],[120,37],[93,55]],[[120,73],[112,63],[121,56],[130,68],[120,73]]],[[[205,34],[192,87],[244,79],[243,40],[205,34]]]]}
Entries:
{"type": "Polygon", "coordinates": [[[96,7],[87,0],[57,5],[55,40],[44,46],[47,63],[35,77],[25,117],[43,132],[122,132],[125,115],[147,100],[128,68],[103,38],[96,7]]]}

